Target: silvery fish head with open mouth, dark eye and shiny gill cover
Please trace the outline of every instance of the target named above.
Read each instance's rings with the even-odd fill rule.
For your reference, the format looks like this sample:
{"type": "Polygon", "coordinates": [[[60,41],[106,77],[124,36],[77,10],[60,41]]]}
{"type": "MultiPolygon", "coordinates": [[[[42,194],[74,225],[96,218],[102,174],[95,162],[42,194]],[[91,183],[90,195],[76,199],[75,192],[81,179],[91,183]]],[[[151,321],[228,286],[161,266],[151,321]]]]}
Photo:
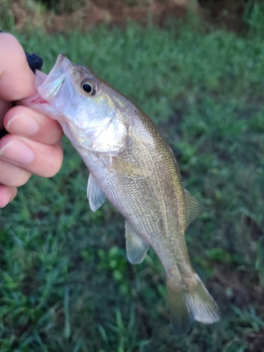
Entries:
{"type": "Polygon", "coordinates": [[[97,149],[116,149],[123,143],[117,142],[125,133],[122,118],[115,118],[120,115],[118,92],[91,70],[59,54],[38,92],[23,104],[57,120],[75,146],[92,148],[100,135],[99,142],[107,145],[97,149]],[[106,130],[108,134],[103,133],[106,130]]]}

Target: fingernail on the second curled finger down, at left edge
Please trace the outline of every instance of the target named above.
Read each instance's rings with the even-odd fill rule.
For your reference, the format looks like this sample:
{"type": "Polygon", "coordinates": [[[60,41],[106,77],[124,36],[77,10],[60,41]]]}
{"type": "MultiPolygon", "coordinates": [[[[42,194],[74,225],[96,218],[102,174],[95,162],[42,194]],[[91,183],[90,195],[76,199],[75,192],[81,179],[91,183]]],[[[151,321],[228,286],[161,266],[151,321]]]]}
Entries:
{"type": "Polygon", "coordinates": [[[14,139],[0,149],[0,156],[18,164],[28,164],[34,159],[34,153],[29,146],[14,139]]]}

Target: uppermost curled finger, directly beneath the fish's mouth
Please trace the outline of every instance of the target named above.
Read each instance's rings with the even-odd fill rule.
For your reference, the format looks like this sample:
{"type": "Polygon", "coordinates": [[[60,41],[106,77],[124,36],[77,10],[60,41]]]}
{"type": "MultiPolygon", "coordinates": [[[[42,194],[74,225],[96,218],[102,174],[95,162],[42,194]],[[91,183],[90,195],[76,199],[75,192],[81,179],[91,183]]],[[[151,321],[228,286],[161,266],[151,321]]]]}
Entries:
{"type": "Polygon", "coordinates": [[[55,144],[63,136],[61,125],[56,120],[25,106],[11,108],[4,118],[4,126],[11,134],[44,144],[55,144]]]}

